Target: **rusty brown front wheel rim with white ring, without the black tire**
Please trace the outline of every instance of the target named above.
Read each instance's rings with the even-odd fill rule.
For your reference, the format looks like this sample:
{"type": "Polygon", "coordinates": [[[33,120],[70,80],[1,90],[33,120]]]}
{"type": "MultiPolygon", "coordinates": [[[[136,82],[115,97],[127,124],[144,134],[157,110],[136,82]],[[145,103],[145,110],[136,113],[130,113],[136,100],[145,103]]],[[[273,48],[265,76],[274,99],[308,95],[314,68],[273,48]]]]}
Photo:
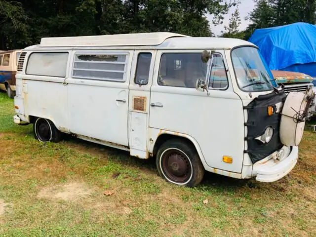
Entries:
{"type": "Polygon", "coordinates": [[[186,184],[192,177],[192,163],[182,151],[171,148],[165,150],[160,157],[161,170],[169,181],[186,184]]]}

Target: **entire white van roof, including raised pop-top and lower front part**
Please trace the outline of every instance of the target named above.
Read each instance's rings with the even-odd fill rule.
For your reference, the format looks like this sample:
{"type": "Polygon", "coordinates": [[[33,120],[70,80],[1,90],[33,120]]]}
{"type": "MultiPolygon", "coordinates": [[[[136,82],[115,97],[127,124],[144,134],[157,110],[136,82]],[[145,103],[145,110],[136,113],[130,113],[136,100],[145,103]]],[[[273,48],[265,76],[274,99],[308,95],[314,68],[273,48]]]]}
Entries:
{"type": "Polygon", "coordinates": [[[245,40],[189,37],[173,33],[139,33],[106,36],[43,38],[24,50],[153,50],[153,49],[232,49],[255,46],[245,40]]]}

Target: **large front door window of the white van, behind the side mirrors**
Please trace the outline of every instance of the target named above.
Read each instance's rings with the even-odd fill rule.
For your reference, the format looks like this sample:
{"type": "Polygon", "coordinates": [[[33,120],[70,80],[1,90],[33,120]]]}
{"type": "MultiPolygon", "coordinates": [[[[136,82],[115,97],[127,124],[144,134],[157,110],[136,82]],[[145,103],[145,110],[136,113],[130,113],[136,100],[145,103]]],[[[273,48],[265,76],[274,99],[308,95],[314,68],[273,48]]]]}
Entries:
{"type": "Polygon", "coordinates": [[[206,63],[200,53],[164,53],[160,59],[158,84],[195,88],[197,79],[206,79],[206,63]]]}

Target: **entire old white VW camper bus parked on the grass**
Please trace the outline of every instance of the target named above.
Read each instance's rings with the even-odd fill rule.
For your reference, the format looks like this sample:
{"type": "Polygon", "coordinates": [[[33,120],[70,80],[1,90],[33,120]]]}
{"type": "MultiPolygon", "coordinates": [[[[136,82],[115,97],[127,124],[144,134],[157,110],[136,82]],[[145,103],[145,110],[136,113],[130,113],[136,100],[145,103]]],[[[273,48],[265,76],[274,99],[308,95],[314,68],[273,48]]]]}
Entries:
{"type": "Polygon", "coordinates": [[[204,170],[272,182],[297,162],[309,92],[288,99],[247,41],[43,38],[23,49],[19,65],[14,122],[33,123],[41,142],[69,133],[156,157],[161,177],[190,187],[204,170]]]}

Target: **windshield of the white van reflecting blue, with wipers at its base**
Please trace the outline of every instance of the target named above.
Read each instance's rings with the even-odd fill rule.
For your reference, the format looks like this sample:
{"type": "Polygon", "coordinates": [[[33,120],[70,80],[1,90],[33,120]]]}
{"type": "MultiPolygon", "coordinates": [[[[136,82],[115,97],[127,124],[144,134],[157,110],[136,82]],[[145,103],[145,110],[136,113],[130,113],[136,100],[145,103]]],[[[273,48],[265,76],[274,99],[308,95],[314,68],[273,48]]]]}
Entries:
{"type": "Polygon", "coordinates": [[[259,50],[254,47],[240,47],[232,51],[232,61],[239,88],[244,91],[273,90],[276,82],[263,60],[259,50]]]}

